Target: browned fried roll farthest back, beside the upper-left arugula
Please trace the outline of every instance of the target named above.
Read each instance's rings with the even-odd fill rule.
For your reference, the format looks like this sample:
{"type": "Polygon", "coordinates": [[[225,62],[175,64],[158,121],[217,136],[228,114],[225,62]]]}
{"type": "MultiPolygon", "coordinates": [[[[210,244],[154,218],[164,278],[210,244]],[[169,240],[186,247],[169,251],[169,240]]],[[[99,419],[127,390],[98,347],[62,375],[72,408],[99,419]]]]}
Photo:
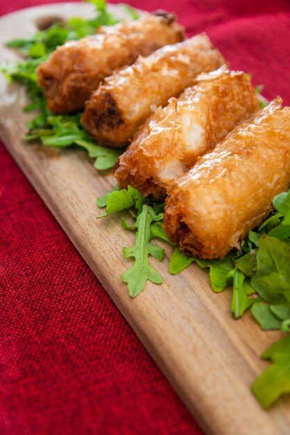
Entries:
{"type": "Polygon", "coordinates": [[[114,69],[130,65],[166,44],[184,39],[183,27],[169,13],[103,26],[96,35],[67,42],[37,69],[49,109],[65,113],[84,106],[92,91],[114,69]]]}

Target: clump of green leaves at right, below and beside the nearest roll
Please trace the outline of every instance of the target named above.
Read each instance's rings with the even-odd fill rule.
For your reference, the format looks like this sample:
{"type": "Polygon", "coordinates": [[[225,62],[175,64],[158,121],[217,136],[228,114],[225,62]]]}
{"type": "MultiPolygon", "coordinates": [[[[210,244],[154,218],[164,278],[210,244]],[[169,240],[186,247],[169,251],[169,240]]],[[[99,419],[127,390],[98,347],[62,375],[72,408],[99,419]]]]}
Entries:
{"type": "MultiPolygon", "coordinates": [[[[210,267],[214,291],[232,284],[231,310],[239,318],[250,306],[263,330],[290,332],[290,190],[273,199],[271,211],[259,228],[250,231],[239,250],[223,260],[200,260],[173,252],[169,272],[177,274],[195,262],[210,267]]],[[[260,375],[252,391],[267,408],[284,393],[290,393],[290,338],[274,343],[263,354],[273,365],[260,375]]]]}

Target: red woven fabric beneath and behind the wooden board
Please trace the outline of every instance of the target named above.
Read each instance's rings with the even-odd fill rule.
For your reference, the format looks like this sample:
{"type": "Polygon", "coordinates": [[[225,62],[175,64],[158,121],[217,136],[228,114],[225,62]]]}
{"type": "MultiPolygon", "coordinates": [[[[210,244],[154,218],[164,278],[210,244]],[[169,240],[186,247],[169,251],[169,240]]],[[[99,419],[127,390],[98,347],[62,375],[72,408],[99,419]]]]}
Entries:
{"type": "MultiPolygon", "coordinates": [[[[40,3],[0,0],[0,14],[40,3]]],[[[128,3],[175,10],[290,104],[289,1],[128,3]]],[[[1,434],[201,434],[2,145],[0,177],[1,434]]]]}

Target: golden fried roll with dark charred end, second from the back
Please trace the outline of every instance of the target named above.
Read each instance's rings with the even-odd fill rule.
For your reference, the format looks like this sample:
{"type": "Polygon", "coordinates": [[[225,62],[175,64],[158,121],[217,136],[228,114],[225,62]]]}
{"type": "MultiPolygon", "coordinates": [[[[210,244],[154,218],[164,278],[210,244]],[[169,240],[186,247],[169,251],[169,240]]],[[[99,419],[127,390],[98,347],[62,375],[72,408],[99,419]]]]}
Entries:
{"type": "Polygon", "coordinates": [[[140,57],[105,79],[85,104],[83,124],[103,145],[123,147],[151,114],[152,105],[166,105],[198,74],[223,63],[205,33],[140,57]]]}

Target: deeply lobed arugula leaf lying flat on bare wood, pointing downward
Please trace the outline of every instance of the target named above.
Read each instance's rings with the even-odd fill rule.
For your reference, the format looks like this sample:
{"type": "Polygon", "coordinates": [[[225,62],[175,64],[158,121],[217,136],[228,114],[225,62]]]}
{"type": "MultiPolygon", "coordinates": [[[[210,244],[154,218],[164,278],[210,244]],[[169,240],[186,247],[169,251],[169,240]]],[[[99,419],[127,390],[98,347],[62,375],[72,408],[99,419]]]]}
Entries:
{"type": "Polygon", "coordinates": [[[156,215],[151,206],[144,204],[135,224],[137,229],[135,245],[123,248],[123,254],[126,258],[135,258],[133,267],[121,274],[122,281],[128,285],[131,297],[139,295],[144,290],[147,281],[154,284],[161,284],[163,281],[160,273],[150,265],[148,260],[149,255],[159,261],[162,261],[164,257],[164,249],[150,243],[151,238],[153,238],[151,223],[158,222],[162,218],[163,213],[156,215]]]}

